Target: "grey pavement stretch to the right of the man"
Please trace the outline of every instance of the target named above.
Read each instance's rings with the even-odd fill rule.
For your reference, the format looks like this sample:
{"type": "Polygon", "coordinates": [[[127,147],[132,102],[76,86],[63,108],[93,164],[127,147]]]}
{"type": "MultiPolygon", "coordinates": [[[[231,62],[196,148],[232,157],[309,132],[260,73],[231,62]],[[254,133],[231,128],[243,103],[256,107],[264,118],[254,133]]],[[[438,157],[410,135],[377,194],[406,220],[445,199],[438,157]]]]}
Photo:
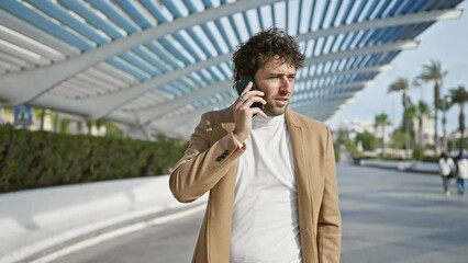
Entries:
{"type": "Polygon", "coordinates": [[[468,262],[468,196],[438,175],[339,165],[342,262],[468,262]]]}

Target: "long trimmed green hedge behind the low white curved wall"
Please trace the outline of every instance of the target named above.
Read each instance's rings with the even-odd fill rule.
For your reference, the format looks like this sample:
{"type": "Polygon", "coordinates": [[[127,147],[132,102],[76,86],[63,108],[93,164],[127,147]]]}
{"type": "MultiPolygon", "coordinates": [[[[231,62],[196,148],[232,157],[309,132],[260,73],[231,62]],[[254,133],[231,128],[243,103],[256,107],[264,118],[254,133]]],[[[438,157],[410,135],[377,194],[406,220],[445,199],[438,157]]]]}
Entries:
{"type": "Polygon", "coordinates": [[[0,193],[167,174],[186,147],[166,137],[145,141],[0,125],[0,193]]]}

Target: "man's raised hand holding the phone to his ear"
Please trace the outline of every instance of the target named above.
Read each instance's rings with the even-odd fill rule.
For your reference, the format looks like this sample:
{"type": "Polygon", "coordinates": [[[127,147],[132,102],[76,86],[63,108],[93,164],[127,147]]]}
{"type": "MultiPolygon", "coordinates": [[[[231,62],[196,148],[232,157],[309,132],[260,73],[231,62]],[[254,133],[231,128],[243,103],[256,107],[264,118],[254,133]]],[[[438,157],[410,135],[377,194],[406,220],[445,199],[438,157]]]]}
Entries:
{"type": "Polygon", "coordinates": [[[245,90],[242,92],[241,96],[234,102],[233,105],[233,115],[234,115],[234,137],[239,144],[244,144],[247,137],[252,132],[252,117],[255,114],[258,114],[263,117],[267,115],[259,107],[250,107],[255,102],[261,104],[267,104],[267,102],[261,98],[264,92],[259,90],[250,90],[253,83],[249,82],[245,90]]]}

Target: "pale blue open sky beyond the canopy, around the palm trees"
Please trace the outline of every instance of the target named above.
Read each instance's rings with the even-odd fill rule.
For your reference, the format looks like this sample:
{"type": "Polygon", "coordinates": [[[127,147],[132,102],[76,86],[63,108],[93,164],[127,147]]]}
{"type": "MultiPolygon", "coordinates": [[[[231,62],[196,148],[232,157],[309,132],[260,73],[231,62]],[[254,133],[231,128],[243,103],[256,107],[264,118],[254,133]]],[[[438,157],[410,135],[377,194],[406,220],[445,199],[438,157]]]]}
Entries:
{"type": "MultiPolygon", "coordinates": [[[[401,93],[388,94],[388,87],[399,77],[412,81],[421,73],[423,65],[430,64],[431,60],[439,60],[448,72],[444,79],[444,94],[448,94],[448,89],[458,84],[464,84],[468,90],[468,14],[466,13],[468,1],[464,1],[457,8],[464,10],[460,19],[439,21],[424,31],[416,38],[421,41],[417,48],[400,53],[391,62],[391,70],[377,76],[375,84],[367,87],[326,124],[334,129],[344,121],[374,122],[377,114],[385,112],[393,123],[392,128],[390,128],[392,130],[401,122],[401,93]]],[[[409,94],[413,102],[422,99],[430,105],[433,104],[432,84],[423,84],[421,89],[412,88],[409,94]]],[[[458,106],[454,106],[447,112],[448,132],[457,128],[458,113],[458,106]]],[[[442,130],[441,125],[439,128],[442,130]]]]}

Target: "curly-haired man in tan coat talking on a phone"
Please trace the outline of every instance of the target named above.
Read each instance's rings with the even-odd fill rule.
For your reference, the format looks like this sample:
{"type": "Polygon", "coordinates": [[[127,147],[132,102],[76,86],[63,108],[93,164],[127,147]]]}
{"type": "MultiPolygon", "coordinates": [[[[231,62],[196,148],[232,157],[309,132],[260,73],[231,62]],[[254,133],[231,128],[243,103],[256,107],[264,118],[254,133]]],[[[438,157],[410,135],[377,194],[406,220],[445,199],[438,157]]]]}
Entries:
{"type": "Polygon", "coordinates": [[[250,82],[232,106],[203,114],[170,174],[180,202],[210,192],[192,262],[339,262],[330,130],[288,110],[303,61],[275,27],[235,50],[234,79],[252,77],[257,90],[250,82]]]}

